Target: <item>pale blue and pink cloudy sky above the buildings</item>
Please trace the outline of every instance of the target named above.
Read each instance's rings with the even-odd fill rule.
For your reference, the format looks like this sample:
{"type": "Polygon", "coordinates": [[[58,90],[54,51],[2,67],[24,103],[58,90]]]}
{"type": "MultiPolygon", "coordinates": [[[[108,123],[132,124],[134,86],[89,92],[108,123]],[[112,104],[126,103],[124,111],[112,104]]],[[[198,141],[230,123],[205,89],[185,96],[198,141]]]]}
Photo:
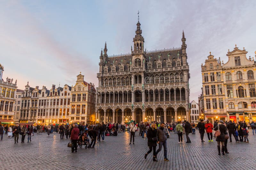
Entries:
{"type": "Polygon", "coordinates": [[[256,51],[256,1],[15,1],[0,0],[3,79],[33,88],[75,85],[82,72],[98,87],[99,56],[129,53],[140,11],[147,50],[181,46],[185,32],[190,101],[201,93],[201,63],[209,52],[227,62],[228,49],[256,51]]]}

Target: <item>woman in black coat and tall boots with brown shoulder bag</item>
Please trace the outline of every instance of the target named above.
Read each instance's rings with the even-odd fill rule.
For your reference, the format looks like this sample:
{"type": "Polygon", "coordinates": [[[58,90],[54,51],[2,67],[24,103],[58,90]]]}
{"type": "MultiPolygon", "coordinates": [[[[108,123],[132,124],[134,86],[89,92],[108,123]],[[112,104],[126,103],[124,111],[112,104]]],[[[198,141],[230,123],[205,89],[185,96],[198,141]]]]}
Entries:
{"type": "Polygon", "coordinates": [[[224,142],[225,142],[226,126],[224,125],[224,122],[222,120],[220,120],[220,124],[218,124],[214,128],[214,131],[217,131],[217,130],[220,130],[220,136],[216,137],[218,152],[220,155],[220,143],[221,143],[221,152],[222,152],[222,155],[225,155],[224,142]]]}

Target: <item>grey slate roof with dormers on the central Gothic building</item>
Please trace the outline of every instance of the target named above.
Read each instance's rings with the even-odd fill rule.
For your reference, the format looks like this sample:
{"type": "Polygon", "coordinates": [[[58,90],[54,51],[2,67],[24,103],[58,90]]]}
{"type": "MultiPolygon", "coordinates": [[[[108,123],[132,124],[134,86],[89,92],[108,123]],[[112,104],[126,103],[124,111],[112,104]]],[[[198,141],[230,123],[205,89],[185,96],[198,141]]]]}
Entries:
{"type": "MultiPolygon", "coordinates": [[[[178,58],[180,58],[180,62],[182,62],[181,54],[182,54],[181,48],[148,51],[146,53],[146,61],[145,62],[148,62],[149,58],[150,58],[150,61],[152,62],[152,68],[157,68],[155,61],[159,60],[159,56],[160,56],[160,60],[162,61],[162,67],[167,67],[168,59],[170,59],[172,61],[172,67],[174,67],[174,66],[176,66],[176,60],[178,58]],[[179,53],[179,57],[178,57],[178,53],[179,53]],[[169,54],[169,57],[168,57],[168,54],[169,54]],[[175,61],[173,60],[173,58],[175,58],[175,61]],[[165,59],[165,62],[164,62],[164,59],[165,59]]],[[[111,70],[111,68],[114,64],[116,66],[116,71],[119,71],[118,70],[119,64],[123,63],[124,71],[128,71],[128,64],[130,63],[130,61],[132,62],[132,54],[108,56],[106,58],[104,66],[107,65],[108,69],[111,70]]],[[[141,62],[143,62],[143,61],[141,61],[141,62]]],[[[147,64],[146,64],[146,68],[147,68],[147,64]]]]}

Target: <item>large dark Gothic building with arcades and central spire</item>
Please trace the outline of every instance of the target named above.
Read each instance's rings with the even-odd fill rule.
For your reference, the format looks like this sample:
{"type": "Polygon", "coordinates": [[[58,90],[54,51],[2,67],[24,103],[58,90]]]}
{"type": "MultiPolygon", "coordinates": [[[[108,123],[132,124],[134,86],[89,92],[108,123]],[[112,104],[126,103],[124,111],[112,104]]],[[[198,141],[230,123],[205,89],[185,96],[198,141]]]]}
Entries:
{"type": "Polygon", "coordinates": [[[175,122],[189,119],[189,67],[186,39],[181,48],[147,51],[140,22],[131,53],[100,54],[97,119],[105,123],[130,120],[175,122]]]}

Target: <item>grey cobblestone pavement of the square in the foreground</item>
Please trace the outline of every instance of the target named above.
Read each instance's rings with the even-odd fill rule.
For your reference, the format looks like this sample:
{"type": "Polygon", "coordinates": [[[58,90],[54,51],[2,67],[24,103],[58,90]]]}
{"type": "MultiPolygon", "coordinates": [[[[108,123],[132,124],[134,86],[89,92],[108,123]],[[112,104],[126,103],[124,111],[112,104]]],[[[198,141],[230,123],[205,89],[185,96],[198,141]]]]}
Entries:
{"type": "MultiPolygon", "coordinates": [[[[27,137],[27,136],[26,136],[27,137]]],[[[186,138],[183,135],[183,138],[186,138]]],[[[153,152],[148,151],[147,139],[136,132],[135,145],[129,145],[130,133],[118,133],[117,137],[106,136],[95,148],[78,148],[71,153],[69,139],[60,139],[59,134],[47,133],[32,136],[32,142],[14,144],[14,138],[4,135],[0,141],[0,169],[255,169],[256,135],[249,130],[249,143],[228,142],[229,154],[218,155],[217,142],[201,143],[200,135],[189,134],[192,143],[178,143],[178,135],[171,132],[167,139],[169,162],[164,161],[163,150],[158,153],[158,162],[153,162],[153,152]]],[[[208,141],[205,133],[204,140],[208,141]]],[[[228,140],[229,141],[229,140],[228,140]]],[[[158,146],[157,146],[158,147],[158,146]]]]}

